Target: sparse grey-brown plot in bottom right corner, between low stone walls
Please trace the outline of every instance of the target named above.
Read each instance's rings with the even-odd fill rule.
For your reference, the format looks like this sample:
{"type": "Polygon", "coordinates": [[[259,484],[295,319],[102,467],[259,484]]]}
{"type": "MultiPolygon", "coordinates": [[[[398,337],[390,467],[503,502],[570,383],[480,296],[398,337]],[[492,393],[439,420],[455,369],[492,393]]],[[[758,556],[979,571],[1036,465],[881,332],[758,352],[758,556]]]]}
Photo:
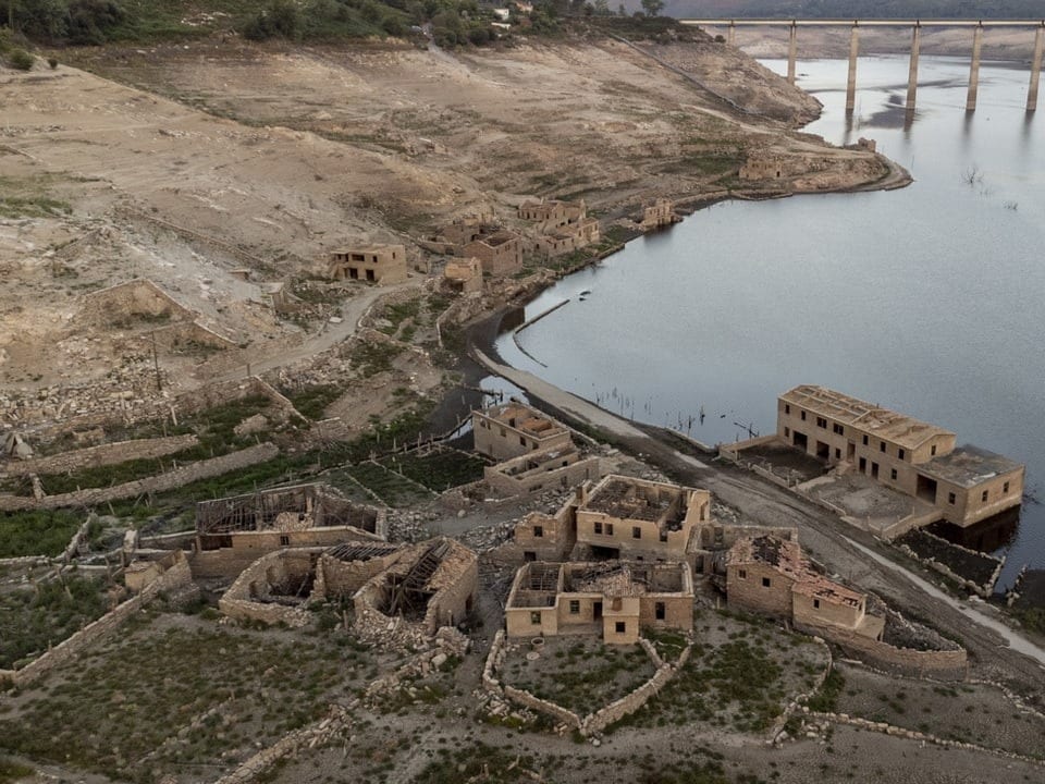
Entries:
{"type": "Polygon", "coordinates": [[[1045,720],[985,684],[939,684],[836,664],[840,713],[1045,759],[1045,720]]]}

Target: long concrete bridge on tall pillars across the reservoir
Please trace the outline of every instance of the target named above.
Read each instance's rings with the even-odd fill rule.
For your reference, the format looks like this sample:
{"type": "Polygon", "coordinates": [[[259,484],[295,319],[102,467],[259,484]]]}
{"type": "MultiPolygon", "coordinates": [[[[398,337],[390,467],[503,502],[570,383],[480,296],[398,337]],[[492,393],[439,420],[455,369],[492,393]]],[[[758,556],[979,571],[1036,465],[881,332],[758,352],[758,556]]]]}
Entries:
{"type": "Polygon", "coordinates": [[[759,20],[759,19],[684,19],[681,24],[697,27],[725,27],[726,40],[736,44],[737,27],[787,27],[790,33],[787,49],[787,81],[795,84],[795,59],[798,52],[799,27],[851,27],[849,36],[849,81],[846,86],[846,112],[851,113],[857,95],[857,54],[860,50],[861,27],[907,27],[911,30],[911,65],[907,82],[907,110],[914,111],[918,91],[918,49],[922,27],[971,27],[972,62],[969,68],[969,94],[966,111],[975,111],[980,89],[980,50],[984,27],[1025,27],[1034,30],[1034,57],[1031,60],[1031,83],[1026,89],[1026,110],[1037,109],[1037,88],[1042,74],[1042,49],[1045,46],[1045,20],[759,20]]]}

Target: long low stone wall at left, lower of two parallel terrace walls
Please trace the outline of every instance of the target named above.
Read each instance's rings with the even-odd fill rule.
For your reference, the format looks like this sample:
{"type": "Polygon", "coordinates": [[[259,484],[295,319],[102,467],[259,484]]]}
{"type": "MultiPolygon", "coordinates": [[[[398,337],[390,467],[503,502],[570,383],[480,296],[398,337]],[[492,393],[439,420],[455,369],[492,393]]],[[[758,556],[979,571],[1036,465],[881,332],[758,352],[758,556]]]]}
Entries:
{"type": "Polygon", "coordinates": [[[39,500],[21,495],[0,495],[0,512],[61,509],[63,506],[91,506],[106,503],[107,501],[135,498],[145,493],[163,492],[199,479],[220,476],[239,468],[263,463],[272,460],[279,453],[280,450],[275,444],[262,443],[256,446],[248,446],[238,452],[231,452],[220,457],[211,457],[209,460],[190,463],[167,471],[165,474],[158,474],[157,476],[136,479],[108,488],[76,490],[58,495],[46,495],[39,500]]]}

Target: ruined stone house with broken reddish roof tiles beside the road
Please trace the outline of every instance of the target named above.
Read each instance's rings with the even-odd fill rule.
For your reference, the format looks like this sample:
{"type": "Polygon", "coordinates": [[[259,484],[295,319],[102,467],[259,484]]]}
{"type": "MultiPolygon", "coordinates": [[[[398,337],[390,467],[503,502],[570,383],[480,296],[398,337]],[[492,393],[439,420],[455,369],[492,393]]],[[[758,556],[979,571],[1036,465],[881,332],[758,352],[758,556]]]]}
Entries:
{"type": "Polygon", "coordinates": [[[739,539],[726,556],[730,608],[831,626],[878,639],[885,621],[866,612],[866,596],[817,574],[798,542],[771,535],[739,539]]]}

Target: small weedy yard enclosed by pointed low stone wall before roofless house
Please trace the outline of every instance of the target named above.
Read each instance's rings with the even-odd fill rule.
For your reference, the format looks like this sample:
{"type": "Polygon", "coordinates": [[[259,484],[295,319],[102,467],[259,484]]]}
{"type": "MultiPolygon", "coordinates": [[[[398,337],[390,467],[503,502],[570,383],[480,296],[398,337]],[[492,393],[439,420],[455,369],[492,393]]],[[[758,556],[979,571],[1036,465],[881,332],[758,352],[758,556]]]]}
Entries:
{"type": "Polygon", "coordinates": [[[548,637],[536,652],[528,644],[509,646],[504,682],[578,715],[635,691],[656,672],[641,646],[608,646],[598,637],[548,637]]]}

